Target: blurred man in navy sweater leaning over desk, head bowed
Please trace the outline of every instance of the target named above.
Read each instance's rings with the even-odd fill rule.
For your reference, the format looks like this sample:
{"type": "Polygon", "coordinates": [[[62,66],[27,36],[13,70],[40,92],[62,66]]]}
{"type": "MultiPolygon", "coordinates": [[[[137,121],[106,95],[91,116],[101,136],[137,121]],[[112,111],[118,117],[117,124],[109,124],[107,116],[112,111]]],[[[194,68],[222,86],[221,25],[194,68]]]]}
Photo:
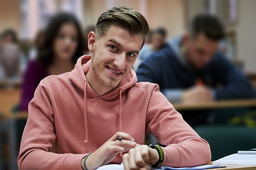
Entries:
{"type": "MultiPolygon", "coordinates": [[[[218,18],[207,14],[196,16],[188,33],[171,38],[161,51],[144,60],[137,71],[138,81],[159,84],[171,102],[254,97],[247,77],[218,52],[218,43],[223,38],[218,18]]],[[[182,114],[190,125],[207,120],[207,114],[200,111],[182,114]]]]}

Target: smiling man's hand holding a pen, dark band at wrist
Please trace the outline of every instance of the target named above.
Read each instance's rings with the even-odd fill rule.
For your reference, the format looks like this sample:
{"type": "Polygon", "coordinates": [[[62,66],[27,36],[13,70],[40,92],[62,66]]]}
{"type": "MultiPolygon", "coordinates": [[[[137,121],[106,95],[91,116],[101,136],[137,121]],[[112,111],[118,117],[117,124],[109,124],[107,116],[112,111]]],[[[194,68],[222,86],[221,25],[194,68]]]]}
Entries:
{"type": "MultiPolygon", "coordinates": [[[[126,152],[128,149],[134,148],[135,146],[136,142],[134,142],[134,139],[130,135],[124,132],[117,132],[110,140],[87,157],[87,169],[97,169],[111,162],[120,152],[126,152]],[[121,141],[117,140],[119,136],[122,136],[121,141]]],[[[82,168],[84,168],[83,162],[84,159],[81,161],[82,168]]]]}

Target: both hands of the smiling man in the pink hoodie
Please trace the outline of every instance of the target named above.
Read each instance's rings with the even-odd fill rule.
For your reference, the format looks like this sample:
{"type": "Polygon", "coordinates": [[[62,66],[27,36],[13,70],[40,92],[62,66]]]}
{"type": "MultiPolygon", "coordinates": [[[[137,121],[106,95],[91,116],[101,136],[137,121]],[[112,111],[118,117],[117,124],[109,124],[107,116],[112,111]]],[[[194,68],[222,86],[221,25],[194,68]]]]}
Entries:
{"type": "MultiPolygon", "coordinates": [[[[110,140],[87,157],[87,169],[97,169],[108,164],[117,154],[127,152],[128,150],[129,152],[122,157],[124,170],[148,170],[159,160],[159,154],[156,149],[152,149],[147,145],[139,145],[127,133],[117,132],[110,140]],[[122,136],[121,141],[117,140],[119,136],[122,136]]],[[[84,159],[81,161],[82,168],[84,168],[83,161],[84,159]]]]}

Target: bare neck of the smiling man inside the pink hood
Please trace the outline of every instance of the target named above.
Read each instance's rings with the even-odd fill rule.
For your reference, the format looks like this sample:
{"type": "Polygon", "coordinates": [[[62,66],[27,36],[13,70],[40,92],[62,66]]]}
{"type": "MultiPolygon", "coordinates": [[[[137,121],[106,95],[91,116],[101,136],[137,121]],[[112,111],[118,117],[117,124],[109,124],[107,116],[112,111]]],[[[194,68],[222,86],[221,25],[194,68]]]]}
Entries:
{"type": "Polygon", "coordinates": [[[99,96],[103,96],[108,92],[112,91],[113,89],[108,88],[104,82],[100,80],[100,78],[95,74],[94,70],[90,67],[89,71],[85,75],[85,78],[88,81],[88,84],[92,87],[93,91],[99,96]]]}

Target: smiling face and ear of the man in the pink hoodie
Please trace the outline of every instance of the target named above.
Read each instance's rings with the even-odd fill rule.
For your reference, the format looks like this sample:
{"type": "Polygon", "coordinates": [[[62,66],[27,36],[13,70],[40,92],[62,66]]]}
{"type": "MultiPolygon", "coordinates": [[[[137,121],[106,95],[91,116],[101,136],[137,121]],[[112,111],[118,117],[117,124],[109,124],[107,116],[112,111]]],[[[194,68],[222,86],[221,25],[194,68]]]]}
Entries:
{"type": "Polygon", "coordinates": [[[101,38],[91,32],[88,39],[95,79],[107,88],[116,88],[129,74],[139,55],[143,38],[140,35],[130,35],[127,30],[118,26],[112,26],[101,38]]]}

